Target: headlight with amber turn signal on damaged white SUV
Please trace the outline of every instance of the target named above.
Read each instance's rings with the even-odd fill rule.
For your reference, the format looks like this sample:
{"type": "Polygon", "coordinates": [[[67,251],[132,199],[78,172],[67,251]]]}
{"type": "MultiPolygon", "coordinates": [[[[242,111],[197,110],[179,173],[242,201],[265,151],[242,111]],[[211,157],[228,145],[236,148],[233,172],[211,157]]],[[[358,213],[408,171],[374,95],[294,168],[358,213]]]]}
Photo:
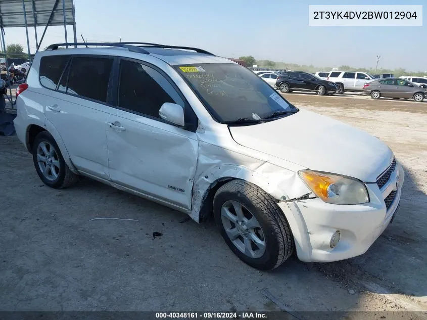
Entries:
{"type": "Polygon", "coordinates": [[[369,202],[366,186],[360,180],[313,170],[301,170],[298,174],[307,187],[324,202],[332,204],[369,202]]]}

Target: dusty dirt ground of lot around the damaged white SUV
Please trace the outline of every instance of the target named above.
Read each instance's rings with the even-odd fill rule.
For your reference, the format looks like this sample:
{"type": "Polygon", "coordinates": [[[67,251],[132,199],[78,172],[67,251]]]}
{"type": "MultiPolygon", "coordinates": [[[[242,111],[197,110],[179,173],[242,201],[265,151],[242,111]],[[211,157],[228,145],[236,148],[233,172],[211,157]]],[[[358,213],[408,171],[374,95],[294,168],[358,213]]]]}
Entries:
{"type": "Polygon", "coordinates": [[[377,136],[405,168],[399,212],[364,255],[259,272],[212,221],[89,179],[45,187],[16,136],[0,136],[0,310],[427,311],[427,103],[286,98],[377,136]]]}

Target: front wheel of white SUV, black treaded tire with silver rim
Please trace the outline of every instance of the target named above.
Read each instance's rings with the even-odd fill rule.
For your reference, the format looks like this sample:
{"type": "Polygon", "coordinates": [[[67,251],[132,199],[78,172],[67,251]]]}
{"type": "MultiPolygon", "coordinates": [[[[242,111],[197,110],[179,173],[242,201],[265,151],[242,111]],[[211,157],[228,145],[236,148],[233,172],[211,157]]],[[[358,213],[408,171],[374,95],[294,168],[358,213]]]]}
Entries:
{"type": "Polygon", "coordinates": [[[240,179],[227,182],[216,192],[213,209],[221,236],[231,251],[246,264],[259,270],[272,270],[293,253],[294,238],[286,217],[276,201],[257,186],[240,179]],[[236,205],[242,208],[242,219],[236,215],[236,205]],[[238,225],[228,216],[245,223],[238,225]],[[251,228],[250,224],[256,227],[251,228]],[[264,250],[262,245],[255,245],[253,239],[263,242],[264,250]],[[240,249],[235,243],[241,244],[240,249]],[[247,250],[246,243],[250,244],[250,250],[247,250]]]}

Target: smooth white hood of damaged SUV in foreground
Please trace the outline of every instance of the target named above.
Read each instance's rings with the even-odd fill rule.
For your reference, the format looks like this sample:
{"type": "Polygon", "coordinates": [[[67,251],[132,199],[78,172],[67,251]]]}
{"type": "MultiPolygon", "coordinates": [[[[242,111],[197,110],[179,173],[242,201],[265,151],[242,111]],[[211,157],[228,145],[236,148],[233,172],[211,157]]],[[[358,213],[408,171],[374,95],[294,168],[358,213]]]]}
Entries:
{"type": "Polygon", "coordinates": [[[314,112],[261,124],[230,126],[242,146],[308,169],[375,182],[391,163],[390,148],[374,136],[314,112]]]}

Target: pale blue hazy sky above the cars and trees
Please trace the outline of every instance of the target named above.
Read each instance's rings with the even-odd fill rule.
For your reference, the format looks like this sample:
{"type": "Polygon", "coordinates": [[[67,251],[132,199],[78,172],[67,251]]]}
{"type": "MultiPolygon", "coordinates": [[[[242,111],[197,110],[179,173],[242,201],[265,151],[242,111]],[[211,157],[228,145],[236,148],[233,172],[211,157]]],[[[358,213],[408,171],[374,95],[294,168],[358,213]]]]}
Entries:
{"type": "MultiPolygon", "coordinates": [[[[310,27],[308,5],[423,5],[425,0],[75,0],[78,41],[141,41],[199,47],[219,56],[252,55],[315,66],[427,71],[427,21],[422,27],[310,27]]],[[[37,28],[39,37],[43,31],[37,28]]],[[[72,40],[72,27],[67,27],[72,40]]],[[[34,28],[30,48],[35,51],[34,28]]],[[[6,43],[26,49],[25,29],[5,29],[6,43]]],[[[49,27],[41,48],[63,42],[49,27]]]]}

